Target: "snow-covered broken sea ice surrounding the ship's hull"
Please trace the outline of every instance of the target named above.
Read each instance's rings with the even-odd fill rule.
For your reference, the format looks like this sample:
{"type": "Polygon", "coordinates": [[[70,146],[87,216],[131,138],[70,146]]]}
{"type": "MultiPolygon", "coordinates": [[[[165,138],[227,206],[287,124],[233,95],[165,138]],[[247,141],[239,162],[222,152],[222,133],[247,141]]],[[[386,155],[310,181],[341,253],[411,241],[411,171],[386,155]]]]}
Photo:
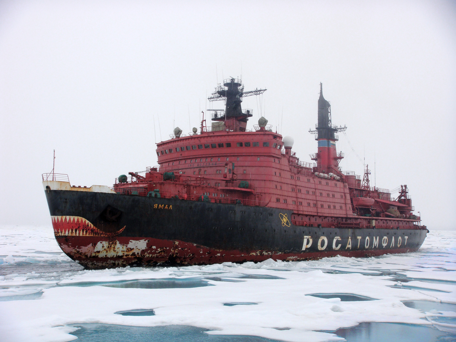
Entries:
{"type": "Polygon", "coordinates": [[[5,342],[71,341],[77,329],[71,325],[78,323],[186,325],[212,335],[292,342],[344,341],[331,331],[361,322],[456,334],[456,310],[419,310],[419,303],[456,304],[455,261],[456,232],[435,231],[408,254],[84,270],[62,253],[51,227],[4,226],[0,336],[5,342]],[[141,310],[155,315],[119,314],[141,310]]]}

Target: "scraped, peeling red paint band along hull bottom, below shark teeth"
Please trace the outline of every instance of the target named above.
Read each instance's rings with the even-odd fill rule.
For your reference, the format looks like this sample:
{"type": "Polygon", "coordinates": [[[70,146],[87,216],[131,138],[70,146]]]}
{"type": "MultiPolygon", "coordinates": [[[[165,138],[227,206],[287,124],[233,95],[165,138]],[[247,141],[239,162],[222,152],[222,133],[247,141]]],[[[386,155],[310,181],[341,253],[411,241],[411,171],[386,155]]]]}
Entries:
{"type": "Polygon", "coordinates": [[[70,258],[85,267],[97,269],[128,265],[157,264],[221,264],[223,262],[259,262],[266,259],[301,261],[342,255],[370,257],[387,253],[407,253],[416,249],[326,250],[321,252],[280,253],[268,250],[210,249],[178,240],[156,238],[106,238],[98,236],[56,236],[57,242],[70,258]]]}

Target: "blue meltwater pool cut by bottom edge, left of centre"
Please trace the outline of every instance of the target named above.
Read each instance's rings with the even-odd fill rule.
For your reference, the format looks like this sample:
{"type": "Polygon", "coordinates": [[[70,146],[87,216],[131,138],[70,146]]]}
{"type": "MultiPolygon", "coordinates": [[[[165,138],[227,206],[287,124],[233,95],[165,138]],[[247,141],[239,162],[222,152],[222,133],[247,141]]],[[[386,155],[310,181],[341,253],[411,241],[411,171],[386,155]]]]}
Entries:
{"type": "Polygon", "coordinates": [[[77,342],[279,342],[255,336],[208,335],[196,326],[119,326],[72,324],[80,327],[72,335],[77,342]]]}

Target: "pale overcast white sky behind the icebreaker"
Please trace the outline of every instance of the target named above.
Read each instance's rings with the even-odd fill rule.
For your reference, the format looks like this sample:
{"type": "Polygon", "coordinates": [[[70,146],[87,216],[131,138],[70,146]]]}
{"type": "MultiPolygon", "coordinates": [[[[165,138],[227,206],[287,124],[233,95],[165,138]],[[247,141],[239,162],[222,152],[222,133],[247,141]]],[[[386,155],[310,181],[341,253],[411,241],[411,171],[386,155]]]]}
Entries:
{"type": "Polygon", "coordinates": [[[308,162],[322,82],[342,169],[365,159],[429,229],[456,228],[456,5],[417,0],[0,1],[0,223],[51,224],[53,149],[72,185],[111,186],[241,75],[268,89],[248,128],[263,115],[308,162]]]}

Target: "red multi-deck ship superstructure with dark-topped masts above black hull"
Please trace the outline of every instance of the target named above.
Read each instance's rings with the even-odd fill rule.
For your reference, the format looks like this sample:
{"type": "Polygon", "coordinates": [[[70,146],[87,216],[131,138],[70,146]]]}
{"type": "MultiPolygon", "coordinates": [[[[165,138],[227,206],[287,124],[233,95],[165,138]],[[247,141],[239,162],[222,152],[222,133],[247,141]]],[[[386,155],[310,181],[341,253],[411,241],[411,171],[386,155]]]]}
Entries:
{"type": "Polygon", "coordinates": [[[298,225],[412,228],[419,224],[407,194],[395,201],[389,190],[369,187],[354,172],[340,170],[344,154],[337,153],[335,133],[347,127],[332,125],[331,106],[321,85],[318,124],[310,130],[318,142],[317,153],[311,155],[314,164],[300,161],[292,151],[293,139],[272,132],[263,117],[253,131],[247,130],[252,110],[241,109],[240,80],[228,79],[224,85],[226,96],[218,87],[209,98],[227,101],[224,111],[212,111],[212,126],[202,121],[200,132],[194,128],[188,135],[176,128],[170,140],[157,144],[159,166],[148,168],[145,176],[130,172],[131,181],[116,182],[114,190],[124,193],[133,188],[145,195],[158,189],[155,192],[165,197],[282,208],[293,212],[298,225]],[[163,181],[164,172],[173,172],[172,182],[163,181]],[[394,214],[388,212],[391,207],[397,209],[394,214]]]}

